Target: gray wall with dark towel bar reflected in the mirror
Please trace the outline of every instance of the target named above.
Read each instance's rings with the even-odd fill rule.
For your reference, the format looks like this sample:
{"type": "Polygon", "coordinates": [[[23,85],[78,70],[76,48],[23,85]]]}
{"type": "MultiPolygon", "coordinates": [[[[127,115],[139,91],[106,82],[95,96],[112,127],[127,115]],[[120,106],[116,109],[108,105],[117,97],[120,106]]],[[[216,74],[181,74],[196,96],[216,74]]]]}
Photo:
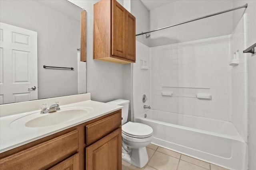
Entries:
{"type": "Polygon", "coordinates": [[[0,21],[38,32],[39,99],[78,93],[76,49],[80,47],[80,20],[34,0],[1,0],[0,21]],[[74,70],[50,70],[43,65],[74,70]]]}

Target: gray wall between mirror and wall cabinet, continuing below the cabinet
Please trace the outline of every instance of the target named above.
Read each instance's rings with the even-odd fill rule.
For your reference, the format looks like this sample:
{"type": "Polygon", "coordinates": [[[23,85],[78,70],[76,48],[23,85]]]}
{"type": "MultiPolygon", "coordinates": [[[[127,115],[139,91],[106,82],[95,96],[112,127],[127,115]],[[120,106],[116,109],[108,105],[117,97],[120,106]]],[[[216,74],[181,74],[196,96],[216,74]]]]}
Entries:
{"type": "MultiPolygon", "coordinates": [[[[92,59],[93,50],[93,4],[99,0],[70,0],[70,2],[84,8],[86,16],[86,50],[87,50],[87,92],[92,100],[108,102],[122,99],[124,93],[124,65],[96,61],[92,59]]],[[[123,1],[118,1],[123,4],[123,1]]]]}

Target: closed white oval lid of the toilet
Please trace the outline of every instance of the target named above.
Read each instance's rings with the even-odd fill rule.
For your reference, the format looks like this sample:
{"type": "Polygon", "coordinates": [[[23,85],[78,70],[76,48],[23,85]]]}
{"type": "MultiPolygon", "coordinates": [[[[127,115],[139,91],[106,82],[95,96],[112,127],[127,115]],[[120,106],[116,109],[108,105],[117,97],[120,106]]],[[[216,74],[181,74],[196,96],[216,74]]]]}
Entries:
{"type": "Polygon", "coordinates": [[[129,121],[122,125],[122,133],[130,137],[144,138],[151,136],[153,129],[148,125],[129,121]]]}

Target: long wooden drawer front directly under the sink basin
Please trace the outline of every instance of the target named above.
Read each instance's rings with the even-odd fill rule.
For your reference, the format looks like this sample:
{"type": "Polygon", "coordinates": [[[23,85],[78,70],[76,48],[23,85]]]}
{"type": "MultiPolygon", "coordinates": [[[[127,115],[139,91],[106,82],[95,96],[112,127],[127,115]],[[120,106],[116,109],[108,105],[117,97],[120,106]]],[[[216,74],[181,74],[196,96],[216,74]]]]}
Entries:
{"type": "Polygon", "coordinates": [[[1,170],[40,169],[78,150],[78,130],[0,160],[1,170]]]}

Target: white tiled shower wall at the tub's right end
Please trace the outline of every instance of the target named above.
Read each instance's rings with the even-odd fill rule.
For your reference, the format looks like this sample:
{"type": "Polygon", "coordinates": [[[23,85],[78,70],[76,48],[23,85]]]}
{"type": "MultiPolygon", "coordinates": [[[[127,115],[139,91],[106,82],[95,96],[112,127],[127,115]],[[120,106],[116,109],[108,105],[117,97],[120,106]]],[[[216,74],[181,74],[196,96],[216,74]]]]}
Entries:
{"type": "Polygon", "coordinates": [[[239,64],[231,68],[232,73],[232,122],[238,133],[247,142],[248,136],[248,47],[247,14],[244,14],[230,37],[231,56],[238,51],[239,64]]]}

